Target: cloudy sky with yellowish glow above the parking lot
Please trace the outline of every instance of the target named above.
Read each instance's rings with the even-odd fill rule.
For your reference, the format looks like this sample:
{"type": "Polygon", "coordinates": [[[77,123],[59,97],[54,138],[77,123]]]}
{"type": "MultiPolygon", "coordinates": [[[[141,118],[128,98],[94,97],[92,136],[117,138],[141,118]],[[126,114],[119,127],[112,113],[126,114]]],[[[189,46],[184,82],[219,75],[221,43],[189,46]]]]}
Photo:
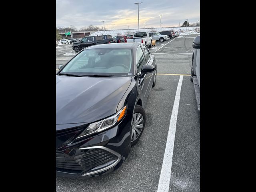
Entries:
{"type": "Polygon", "coordinates": [[[138,28],[139,4],[140,28],[157,28],[180,25],[200,20],[200,0],[56,0],[56,27],[74,25],[78,30],[90,24],[114,29],[138,28]]]}

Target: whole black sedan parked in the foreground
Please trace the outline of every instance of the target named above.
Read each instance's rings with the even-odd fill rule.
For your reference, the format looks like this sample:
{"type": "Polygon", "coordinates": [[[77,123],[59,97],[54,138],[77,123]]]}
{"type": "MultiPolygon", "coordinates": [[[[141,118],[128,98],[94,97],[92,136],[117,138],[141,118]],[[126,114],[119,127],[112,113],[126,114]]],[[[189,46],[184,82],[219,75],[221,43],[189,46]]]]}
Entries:
{"type": "Polygon", "coordinates": [[[87,47],[56,74],[56,175],[108,174],[126,160],[146,123],[156,59],[141,43],[87,47]]]}

